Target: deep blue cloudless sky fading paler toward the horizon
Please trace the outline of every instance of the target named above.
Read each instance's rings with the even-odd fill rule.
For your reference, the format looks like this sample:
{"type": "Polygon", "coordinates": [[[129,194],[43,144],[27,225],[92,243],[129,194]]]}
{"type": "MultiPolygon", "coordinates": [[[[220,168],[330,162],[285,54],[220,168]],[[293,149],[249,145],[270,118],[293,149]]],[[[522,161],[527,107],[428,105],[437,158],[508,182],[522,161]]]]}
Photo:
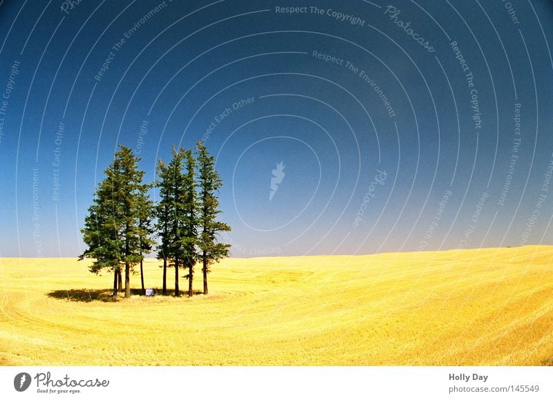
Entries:
{"type": "Polygon", "coordinates": [[[202,139],[233,256],[551,244],[552,44],[550,0],[0,1],[0,256],[202,139]]]}

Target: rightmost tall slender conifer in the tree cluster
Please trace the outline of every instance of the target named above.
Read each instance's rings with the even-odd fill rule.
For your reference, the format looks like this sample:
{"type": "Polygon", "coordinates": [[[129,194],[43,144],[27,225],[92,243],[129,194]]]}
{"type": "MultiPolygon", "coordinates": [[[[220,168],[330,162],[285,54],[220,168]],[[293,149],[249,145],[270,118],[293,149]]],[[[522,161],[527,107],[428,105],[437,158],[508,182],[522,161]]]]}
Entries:
{"type": "Polygon", "coordinates": [[[215,169],[215,158],[209,155],[203,142],[196,142],[196,164],[198,177],[198,225],[201,229],[198,235],[199,258],[202,260],[203,293],[208,294],[207,274],[209,265],[228,257],[230,245],[218,242],[218,233],[230,231],[229,225],[216,220],[221,210],[217,192],[223,185],[223,180],[215,169]]]}

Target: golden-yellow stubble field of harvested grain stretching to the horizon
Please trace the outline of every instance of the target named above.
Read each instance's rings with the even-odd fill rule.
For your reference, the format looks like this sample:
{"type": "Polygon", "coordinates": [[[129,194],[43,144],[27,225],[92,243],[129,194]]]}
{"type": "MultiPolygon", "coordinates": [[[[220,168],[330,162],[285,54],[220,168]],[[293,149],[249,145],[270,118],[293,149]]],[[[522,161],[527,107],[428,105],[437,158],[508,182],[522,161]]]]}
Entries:
{"type": "Polygon", "coordinates": [[[88,265],[0,258],[0,365],[553,365],[552,247],[231,258],[115,302],[88,265]]]}

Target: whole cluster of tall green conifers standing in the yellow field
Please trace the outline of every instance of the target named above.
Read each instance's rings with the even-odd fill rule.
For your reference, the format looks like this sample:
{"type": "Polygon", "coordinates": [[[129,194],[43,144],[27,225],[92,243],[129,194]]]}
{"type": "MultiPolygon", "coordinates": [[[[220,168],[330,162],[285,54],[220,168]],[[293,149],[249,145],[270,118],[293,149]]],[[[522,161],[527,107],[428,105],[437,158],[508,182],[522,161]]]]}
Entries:
{"type": "Polygon", "coordinates": [[[104,171],[106,178],[95,190],[81,229],[88,248],[79,260],[93,258],[91,272],[106,268],[113,272],[113,297],[122,290],[124,269],[125,297],[131,296],[130,275],[140,263],[142,292],[144,255],[157,251],[163,262],[162,293],[167,294],[167,267],[175,268],[175,296],[180,296],[179,272],[188,279],[188,296],[192,296],[194,266],[200,263],[203,293],[207,294],[209,266],[227,257],[230,245],[218,241],[218,234],[230,227],[217,220],[218,189],[223,184],[215,169],[215,158],[203,142],[195,151],[173,148],[169,164],[158,161],[158,179],[142,182],[144,171],[138,169],[140,158],[131,149],[119,146],[113,162],[104,171]],[[159,201],[148,196],[156,187],[159,201]]]}

